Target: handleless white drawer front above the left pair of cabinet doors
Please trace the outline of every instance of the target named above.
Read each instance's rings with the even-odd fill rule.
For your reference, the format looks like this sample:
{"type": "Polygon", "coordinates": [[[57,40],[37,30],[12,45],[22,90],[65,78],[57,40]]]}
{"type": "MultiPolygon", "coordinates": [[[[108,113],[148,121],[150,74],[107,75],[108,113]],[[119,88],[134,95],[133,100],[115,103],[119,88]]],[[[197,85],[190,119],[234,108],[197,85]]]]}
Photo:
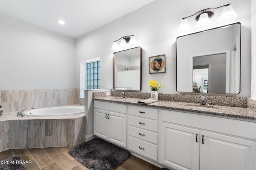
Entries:
{"type": "Polygon", "coordinates": [[[103,110],[110,110],[119,113],[127,113],[127,105],[126,104],[116,104],[111,102],[101,102],[101,101],[94,101],[94,108],[103,109],[103,110]]]}

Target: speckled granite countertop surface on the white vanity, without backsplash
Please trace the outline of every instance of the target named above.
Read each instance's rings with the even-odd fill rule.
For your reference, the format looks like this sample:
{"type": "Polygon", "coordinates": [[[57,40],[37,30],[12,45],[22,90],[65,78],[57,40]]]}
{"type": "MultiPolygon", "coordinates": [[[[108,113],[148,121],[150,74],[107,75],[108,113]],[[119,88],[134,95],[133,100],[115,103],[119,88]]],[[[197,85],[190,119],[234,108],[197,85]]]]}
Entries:
{"type": "Polygon", "coordinates": [[[121,98],[115,96],[107,96],[107,97],[94,97],[94,100],[106,101],[106,102],[117,102],[122,104],[133,104],[140,106],[149,106],[149,107],[157,107],[163,109],[174,109],[179,111],[188,111],[194,113],[203,113],[210,115],[219,115],[234,117],[243,119],[245,121],[255,121],[256,122],[256,111],[247,107],[230,107],[230,106],[218,106],[218,105],[198,105],[195,103],[185,103],[185,102],[172,102],[165,100],[158,100],[158,102],[154,102],[151,104],[138,104],[138,101],[142,101],[145,99],[139,98],[121,98]]]}

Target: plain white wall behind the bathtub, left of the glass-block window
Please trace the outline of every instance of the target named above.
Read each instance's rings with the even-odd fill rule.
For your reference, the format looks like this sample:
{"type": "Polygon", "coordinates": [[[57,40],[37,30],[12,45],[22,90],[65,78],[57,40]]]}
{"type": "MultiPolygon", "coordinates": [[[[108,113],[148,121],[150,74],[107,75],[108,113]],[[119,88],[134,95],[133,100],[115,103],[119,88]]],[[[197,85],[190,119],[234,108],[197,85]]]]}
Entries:
{"type": "Polygon", "coordinates": [[[1,16],[0,90],[75,87],[75,40],[1,16]]]}

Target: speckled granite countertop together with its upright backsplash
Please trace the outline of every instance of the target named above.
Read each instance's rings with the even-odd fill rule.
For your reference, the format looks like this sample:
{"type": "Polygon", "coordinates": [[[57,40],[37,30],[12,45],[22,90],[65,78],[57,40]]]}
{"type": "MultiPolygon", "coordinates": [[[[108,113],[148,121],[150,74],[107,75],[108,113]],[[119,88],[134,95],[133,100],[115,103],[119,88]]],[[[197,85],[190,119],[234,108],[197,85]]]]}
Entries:
{"type": "MultiPolygon", "coordinates": [[[[138,101],[150,98],[149,93],[138,93],[137,98],[130,98],[129,95],[135,96],[136,92],[128,92],[128,98],[125,99],[116,98],[116,96],[121,96],[120,92],[112,92],[112,96],[104,96],[102,93],[97,94],[97,92],[95,92],[94,100],[141,105],[138,104],[138,101]]],[[[247,98],[207,96],[206,102],[210,104],[210,106],[201,106],[196,104],[200,102],[199,97],[199,95],[159,94],[158,98],[160,100],[158,100],[158,102],[147,104],[146,106],[256,121],[256,110],[255,108],[252,108],[254,100],[250,101],[249,107],[247,107],[247,101],[249,101],[247,98]]]]}

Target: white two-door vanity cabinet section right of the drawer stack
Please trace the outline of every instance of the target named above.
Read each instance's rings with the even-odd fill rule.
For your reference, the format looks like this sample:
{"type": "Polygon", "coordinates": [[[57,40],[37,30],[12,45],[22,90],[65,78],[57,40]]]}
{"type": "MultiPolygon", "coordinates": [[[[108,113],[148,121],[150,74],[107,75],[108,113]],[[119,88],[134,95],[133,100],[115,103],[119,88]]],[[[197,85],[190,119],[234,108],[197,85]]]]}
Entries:
{"type": "Polygon", "coordinates": [[[177,170],[255,170],[254,122],[162,110],[162,164],[177,170]]]}

